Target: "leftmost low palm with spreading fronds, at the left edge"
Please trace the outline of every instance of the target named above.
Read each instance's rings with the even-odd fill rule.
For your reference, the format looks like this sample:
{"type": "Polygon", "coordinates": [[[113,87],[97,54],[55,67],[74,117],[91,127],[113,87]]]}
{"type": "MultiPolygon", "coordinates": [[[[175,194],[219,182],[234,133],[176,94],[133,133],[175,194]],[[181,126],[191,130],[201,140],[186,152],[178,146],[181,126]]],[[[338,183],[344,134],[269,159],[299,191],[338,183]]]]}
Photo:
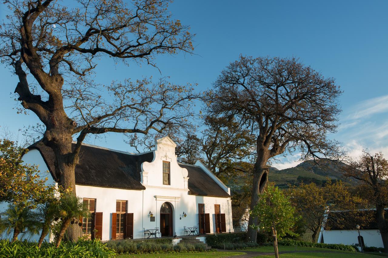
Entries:
{"type": "Polygon", "coordinates": [[[31,206],[24,203],[20,205],[9,204],[7,210],[1,213],[1,224],[3,229],[10,234],[13,231],[12,241],[17,240],[17,236],[38,234],[40,223],[37,220],[36,212],[31,206]]]}

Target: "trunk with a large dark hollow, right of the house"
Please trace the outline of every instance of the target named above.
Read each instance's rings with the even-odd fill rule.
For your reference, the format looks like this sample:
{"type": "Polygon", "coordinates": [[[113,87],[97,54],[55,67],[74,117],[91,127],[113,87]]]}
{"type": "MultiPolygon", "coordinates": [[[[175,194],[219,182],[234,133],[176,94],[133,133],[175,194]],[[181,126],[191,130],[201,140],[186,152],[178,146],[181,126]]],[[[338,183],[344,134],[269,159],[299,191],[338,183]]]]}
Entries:
{"type": "MultiPolygon", "coordinates": [[[[260,200],[260,194],[263,193],[268,181],[268,154],[264,151],[258,151],[258,157],[253,168],[253,182],[252,182],[252,197],[250,210],[253,210],[260,200]]],[[[257,230],[253,229],[252,225],[257,225],[258,217],[253,217],[249,214],[248,231],[246,233],[246,241],[256,243],[257,230]]]]}

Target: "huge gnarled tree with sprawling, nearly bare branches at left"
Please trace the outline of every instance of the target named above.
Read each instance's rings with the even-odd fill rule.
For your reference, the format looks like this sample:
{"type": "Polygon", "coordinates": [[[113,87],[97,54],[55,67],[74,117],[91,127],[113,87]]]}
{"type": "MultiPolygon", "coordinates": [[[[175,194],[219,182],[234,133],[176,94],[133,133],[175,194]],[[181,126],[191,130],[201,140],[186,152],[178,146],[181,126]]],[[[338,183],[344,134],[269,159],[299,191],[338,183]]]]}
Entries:
{"type": "MultiPolygon", "coordinates": [[[[86,136],[187,126],[197,97],[190,85],[139,79],[101,86],[91,77],[102,57],[156,67],[157,55],[191,53],[193,35],[171,19],[170,1],[78,0],[74,8],[54,0],[3,2],[11,14],[0,30],[1,61],[19,79],[15,93],[23,108],[45,126],[43,143],[54,150],[64,189],[75,195],[74,168],[86,136]]],[[[75,240],[80,228],[68,233],[75,240]]]]}

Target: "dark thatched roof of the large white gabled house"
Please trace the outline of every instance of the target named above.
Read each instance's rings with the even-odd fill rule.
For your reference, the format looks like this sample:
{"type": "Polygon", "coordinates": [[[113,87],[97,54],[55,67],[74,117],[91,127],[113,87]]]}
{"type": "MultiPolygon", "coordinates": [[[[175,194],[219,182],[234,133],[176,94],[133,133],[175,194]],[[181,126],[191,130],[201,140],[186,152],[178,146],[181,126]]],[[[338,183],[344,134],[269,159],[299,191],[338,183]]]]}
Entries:
{"type": "MultiPolygon", "coordinates": [[[[73,144],[73,147],[75,144],[73,144]]],[[[54,151],[41,141],[28,147],[40,151],[43,160],[55,181],[54,151]]],[[[143,190],[140,183],[141,164],[152,162],[153,152],[130,154],[109,150],[98,146],[83,144],[80,151],[80,163],[75,168],[77,185],[99,186],[119,189],[143,190]]],[[[189,194],[228,198],[225,192],[204,170],[195,165],[179,164],[188,171],[189,194]]]]}

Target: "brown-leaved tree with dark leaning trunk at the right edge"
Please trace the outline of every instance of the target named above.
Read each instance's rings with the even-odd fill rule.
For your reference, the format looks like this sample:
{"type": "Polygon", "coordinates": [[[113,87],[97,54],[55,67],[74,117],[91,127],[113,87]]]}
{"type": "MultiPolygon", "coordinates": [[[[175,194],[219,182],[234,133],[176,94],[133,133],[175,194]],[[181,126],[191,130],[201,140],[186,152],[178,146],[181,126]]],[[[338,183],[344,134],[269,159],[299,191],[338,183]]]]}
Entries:
{"type": "Polygon", "coordinates": [[[371,155],[363,151],[359,159],[345,169],[344,175],[357,179],[361,183],[362,192],[376,206],[376,222],[384,252],[388,253],[388,220],[385,216],[385,208],[388,206],[388,161],[381,152],[371,155]]]}

